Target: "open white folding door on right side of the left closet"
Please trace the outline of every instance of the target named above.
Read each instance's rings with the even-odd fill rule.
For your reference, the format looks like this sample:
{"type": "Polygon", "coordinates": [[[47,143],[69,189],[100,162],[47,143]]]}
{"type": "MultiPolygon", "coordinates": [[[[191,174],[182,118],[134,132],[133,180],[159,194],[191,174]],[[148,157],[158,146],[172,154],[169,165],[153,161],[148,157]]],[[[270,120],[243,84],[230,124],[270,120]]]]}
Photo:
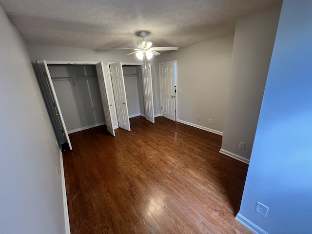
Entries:
{"type": "Polygon", "coordinates": [[[113,118],[112,118],[112,113],[111,113],[112,104],[110,104],[108,101],[107,84],[106,84],[106,80],[104,77],[103,62],[97,63],[96,68],[97,68],[98,85],[99,85],[99,90],[100,90],[102,104],[103,104],[106,127],[107,127],[107,130],[115,137],[115,130],[112,124],[113,123],[113,118]]]}

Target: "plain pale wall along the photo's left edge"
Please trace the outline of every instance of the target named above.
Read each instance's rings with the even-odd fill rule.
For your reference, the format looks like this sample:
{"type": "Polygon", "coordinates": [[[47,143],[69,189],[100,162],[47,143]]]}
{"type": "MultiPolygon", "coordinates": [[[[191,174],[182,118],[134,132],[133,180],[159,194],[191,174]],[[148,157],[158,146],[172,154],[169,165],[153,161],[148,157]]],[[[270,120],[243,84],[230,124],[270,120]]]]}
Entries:
{"type": "Polygon", "coordinates": [[[0,233],[65,233],[59,147],[25,43],[0,6],[0,233]]]}

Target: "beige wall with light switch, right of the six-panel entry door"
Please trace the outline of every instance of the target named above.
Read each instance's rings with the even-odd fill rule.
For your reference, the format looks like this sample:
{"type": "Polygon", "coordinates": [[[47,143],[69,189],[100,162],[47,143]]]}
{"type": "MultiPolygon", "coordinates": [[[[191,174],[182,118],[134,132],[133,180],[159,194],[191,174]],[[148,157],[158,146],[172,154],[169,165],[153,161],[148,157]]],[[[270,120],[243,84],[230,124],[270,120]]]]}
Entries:
{"type": "MultiPolygon", "coordinates": [[[[182,94],[176,94],[178,121],[222,134],[233,39],[230,35],[208,40],[157,57],[158,63],[177,60],[177,89],[182,89],[182,94]]],[[[158,71],[154,76],[159,82],[158,71]]]]}

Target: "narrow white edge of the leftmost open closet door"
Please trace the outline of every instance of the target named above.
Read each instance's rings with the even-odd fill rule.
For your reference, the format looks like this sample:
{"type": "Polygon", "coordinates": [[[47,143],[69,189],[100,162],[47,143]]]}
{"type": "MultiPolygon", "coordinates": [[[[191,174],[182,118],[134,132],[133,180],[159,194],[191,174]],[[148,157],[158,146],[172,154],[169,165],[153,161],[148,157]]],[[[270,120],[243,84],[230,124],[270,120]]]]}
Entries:
{"type": "Polygon", "coordinates": [[[59,122],[60,122],[61,127],[62,127],[62,133],[63,133],[63,135],[64,135],[64,137],[68,143],[69,149],[72,150],[73,147],[72,147],[72,144],[71,144],[69,136],[68,136],[68,132],[67,132],[67,129],[65,126],[65,121],[64,121],[62,112],[60,110],[59,100],[58,100],[57,94],[56,94],[54,86],[53,86],[52,78],[51,78],[49,68],[48,68],[48,64],[47,64],[46,60],[43,60],[42,67],[43,67],[43,70],[45,73],[45,78],[47,79],[47,83],[49,84],[49,88],[50,88],[51,95],[52,95],[52,98],[53,98],[53,101],[55,104],[55,108],[57,110],[57,116],[59,118],[59,122]]]}

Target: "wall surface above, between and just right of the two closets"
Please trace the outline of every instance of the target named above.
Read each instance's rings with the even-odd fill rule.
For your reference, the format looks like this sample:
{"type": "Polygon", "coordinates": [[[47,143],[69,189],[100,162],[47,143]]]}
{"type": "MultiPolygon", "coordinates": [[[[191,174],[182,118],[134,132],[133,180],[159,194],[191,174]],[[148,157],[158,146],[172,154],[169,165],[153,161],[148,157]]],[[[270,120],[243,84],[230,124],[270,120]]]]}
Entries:
{"type": "MultiPolygon", "coordinates": [[[[125,56],[128,51],[125,50],[94,50],[72,47],[59,47],[59,46],[44,46],[44,45],[28,45],[30,57],[33,62],[37,59],[46,60],[73,60],[73,61],[103,61],[105,78],[107,83],[109,82],[109,76],[107,72],[106,62],[142,62],[137,59],[135,55],[125,56]]],[[[158,71],[158,64],[154,64],[154,59],[151,60],[152,70],[158,71]]],[[[155,72],[154,72],[155,73],[155,72]]],[[[156,95],[154,98],[154,108],[156,113],[160,113],[160,100],[159,100],[159,81],[156,76],[152,76],[153,80],[153,92],[156,95]],[[157,109],[158,108],[158,109],[157,109]]],[[[113,103],[114,98],[111,90],[108,90],[109,102],[113,103]]],[[[116,110],[115,110],[116,115],[116,110]]],[[[113,125],[117,126],[116,118],[113,118],[113,125]]]]}

